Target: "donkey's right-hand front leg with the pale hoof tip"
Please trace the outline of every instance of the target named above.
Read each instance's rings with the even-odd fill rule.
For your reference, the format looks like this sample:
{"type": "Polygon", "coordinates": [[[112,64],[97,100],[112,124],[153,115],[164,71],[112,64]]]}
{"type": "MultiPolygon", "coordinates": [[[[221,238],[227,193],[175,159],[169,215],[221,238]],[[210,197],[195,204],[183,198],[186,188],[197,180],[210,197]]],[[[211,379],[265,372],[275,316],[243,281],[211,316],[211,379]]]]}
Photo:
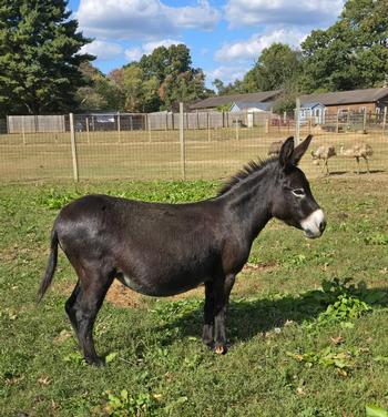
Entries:
{"type": "Polygon", "coordinates": [[[214,352],[226,354],[226,309],[229,294],[235,282],[235,274],[228,274],[214,285],[214,352]]]}

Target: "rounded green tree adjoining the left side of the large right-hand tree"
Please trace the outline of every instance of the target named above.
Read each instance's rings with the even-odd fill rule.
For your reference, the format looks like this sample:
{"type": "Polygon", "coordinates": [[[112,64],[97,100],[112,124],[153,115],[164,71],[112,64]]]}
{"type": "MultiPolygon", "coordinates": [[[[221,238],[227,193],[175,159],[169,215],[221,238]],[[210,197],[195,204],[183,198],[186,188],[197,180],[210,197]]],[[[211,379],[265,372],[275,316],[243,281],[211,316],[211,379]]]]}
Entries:
{"type": "Polygon", "coordinates": [[[246,92],[284,89],[295,83],[300,74],[300,53],[284,43],[273,43],[265,48],[254,68],[243,80],[246,92]]]}

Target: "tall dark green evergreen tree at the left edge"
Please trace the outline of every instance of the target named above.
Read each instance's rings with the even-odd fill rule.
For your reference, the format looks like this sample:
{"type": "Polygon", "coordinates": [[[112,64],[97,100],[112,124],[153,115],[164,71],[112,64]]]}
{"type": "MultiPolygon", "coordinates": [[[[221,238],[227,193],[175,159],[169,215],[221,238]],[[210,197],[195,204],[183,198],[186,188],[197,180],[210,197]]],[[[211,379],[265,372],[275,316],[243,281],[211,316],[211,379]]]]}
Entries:
{"type": "Polygon", "coordinates": [[[39,114],[75,105],[84,85],[78,32],[64,0],[0,0],[0,112],[39,114]]]}

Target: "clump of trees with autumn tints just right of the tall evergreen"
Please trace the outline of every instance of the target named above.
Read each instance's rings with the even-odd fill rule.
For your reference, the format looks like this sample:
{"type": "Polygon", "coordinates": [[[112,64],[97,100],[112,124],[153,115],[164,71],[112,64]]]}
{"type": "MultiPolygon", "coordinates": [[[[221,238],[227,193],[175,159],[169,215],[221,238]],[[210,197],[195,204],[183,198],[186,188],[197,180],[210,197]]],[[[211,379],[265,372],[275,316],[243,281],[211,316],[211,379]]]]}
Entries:
{"type": "Polygon", "coordinates": [[[86,63],[81,71],[89,84],[78,91],[81,110],[154,112],[214,93],[205,88],[204,72],[192,67],[184,44],[159,47],[106,77],[86,63]]]}

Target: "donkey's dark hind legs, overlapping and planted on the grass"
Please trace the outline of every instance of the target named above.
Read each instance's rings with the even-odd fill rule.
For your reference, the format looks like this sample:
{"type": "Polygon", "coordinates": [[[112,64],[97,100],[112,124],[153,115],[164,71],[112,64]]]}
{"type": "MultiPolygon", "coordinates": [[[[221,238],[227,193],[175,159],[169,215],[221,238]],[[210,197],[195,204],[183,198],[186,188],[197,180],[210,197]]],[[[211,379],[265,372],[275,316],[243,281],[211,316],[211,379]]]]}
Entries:
{"type": "Polygon", "coordinates": [[[104,364],[94,348],[93,325],[112,281],[113,276],[101,273],[82,274],[65,305],[80,348],[89,364],[104,364]]]}

